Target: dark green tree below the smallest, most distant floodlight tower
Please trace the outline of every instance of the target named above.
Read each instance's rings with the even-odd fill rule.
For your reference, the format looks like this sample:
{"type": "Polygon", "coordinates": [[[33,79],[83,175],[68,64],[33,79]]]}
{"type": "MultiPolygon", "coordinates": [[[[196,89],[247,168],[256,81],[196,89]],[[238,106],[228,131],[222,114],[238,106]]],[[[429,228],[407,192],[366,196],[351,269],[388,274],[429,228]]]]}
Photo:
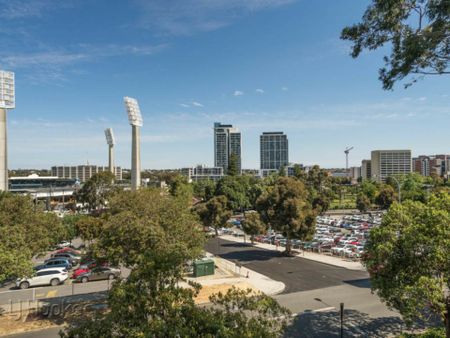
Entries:
{"type": "Polygon", "coordinates": [[[87,204],[89,210],[104,207],[108,194],[112,192],[114,178],[109,171],[93,175],[77,192],[77,200],[87,204]]]}

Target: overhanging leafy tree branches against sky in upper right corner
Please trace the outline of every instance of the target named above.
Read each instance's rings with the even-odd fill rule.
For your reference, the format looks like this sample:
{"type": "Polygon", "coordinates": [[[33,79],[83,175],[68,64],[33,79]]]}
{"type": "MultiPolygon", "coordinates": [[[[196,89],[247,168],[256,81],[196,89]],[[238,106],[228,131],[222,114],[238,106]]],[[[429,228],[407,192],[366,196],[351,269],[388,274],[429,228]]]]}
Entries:
{"type": "Polygon", "coordinates": [[[449,31],[448,0],[372,0],[362,22],[344,28],[341,38],[353,42],[354,58],[364,49],[391,46],[379,74],[383,88],[392,89],[409,75],[450,74],[449,31]]]}

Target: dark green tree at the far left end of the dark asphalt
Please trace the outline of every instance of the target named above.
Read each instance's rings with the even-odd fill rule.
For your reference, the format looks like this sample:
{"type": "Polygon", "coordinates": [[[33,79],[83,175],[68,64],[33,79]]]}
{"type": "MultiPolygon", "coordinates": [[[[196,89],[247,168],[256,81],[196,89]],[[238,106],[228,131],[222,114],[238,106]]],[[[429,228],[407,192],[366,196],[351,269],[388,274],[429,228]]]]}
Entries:
{"type": "Polygon", "coordinates": [[[200,204],[196,210],[203,225],[213,227],[216,236],[219,234],[219,228],[225,227],[232,215],[228,208],[228,200],[223,195],[214,196],[209,201],[200,204]]]}

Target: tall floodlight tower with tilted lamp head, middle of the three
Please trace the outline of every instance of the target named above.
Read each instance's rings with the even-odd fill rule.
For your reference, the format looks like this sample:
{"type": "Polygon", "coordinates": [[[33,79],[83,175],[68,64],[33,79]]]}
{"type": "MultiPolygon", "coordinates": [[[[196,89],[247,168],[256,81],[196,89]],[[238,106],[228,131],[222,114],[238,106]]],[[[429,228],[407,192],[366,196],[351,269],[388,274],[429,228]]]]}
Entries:
{"type": "Polygon", "coordinates": [[[132,128],[131,139],[131,190],[139,189],[141,185],[141,127],[142,115],[136,99],[123,98],[132,128]]]}

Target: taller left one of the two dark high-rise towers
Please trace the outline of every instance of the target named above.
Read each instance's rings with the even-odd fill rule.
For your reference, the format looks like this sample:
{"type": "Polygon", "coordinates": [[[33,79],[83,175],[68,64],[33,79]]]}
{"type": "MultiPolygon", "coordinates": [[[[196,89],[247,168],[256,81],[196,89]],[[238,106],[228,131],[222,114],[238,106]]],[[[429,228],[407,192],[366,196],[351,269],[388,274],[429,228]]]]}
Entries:
{"type": "Polygon", "coordinates": [[[231,124],[214,123],[214,166],[223,168],[226,173],[232,154],[236,156],[241,172],[241,133],[231,124]]]}

